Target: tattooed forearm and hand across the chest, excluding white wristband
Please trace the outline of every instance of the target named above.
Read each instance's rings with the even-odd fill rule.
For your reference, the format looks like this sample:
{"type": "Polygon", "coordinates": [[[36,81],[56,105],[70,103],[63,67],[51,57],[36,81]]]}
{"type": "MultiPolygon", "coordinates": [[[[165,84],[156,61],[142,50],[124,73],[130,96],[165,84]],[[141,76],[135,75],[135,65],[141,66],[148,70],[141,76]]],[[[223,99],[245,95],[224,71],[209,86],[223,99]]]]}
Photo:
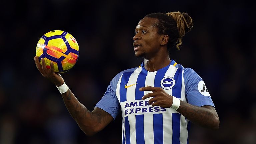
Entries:
{"type": "MultiPolygon", "coordinates": [[[[173,96],[166,93],[160,87],[142,87],[140,91],[152,91],[153,93],[148,93],[142,97],[143,100],[153,97],[149,100],[149,104],[152,106],[160,106],[164,108],[170,108],[173,103],[173,96]]],[[[180,100],[180,106],[177,112],[185,116],[192,123],[200,125],[202,127],[210,129],[219,128],[219,116],[213,106],[194,106],[187,102],[180,100]]]]}

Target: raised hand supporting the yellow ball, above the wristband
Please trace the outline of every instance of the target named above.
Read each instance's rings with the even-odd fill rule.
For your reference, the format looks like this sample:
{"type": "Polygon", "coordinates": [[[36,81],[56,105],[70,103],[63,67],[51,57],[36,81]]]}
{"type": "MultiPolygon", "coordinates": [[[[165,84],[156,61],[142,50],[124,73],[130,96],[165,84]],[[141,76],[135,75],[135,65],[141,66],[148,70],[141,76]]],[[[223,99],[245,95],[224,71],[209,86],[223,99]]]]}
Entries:
{"type": "Polygon", "coordinates": [[[53,71],[53,63],[50,63],[50,70],[46,68],[46,64],[44,59],[42,58],[42,65],[39,62],[38,56],[34,57],[36,68],[40,71],[43,77],[49,79],[55,86],[59,87],[64,84],[64,79],[60,76],[60,74],[55,73],[53,71]]]}

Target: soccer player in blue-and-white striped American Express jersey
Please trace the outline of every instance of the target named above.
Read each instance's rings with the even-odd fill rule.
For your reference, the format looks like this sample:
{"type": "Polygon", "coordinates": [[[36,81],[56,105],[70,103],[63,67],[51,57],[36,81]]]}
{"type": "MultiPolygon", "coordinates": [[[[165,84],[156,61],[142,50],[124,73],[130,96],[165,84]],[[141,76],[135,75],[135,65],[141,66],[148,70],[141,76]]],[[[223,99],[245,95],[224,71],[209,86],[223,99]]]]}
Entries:
{"type": "Polygon", "coordinates": [[[86,135],[101,131],[122,112],[122,143],[185,144],[188,124],[219,128],[219,117],[204,81],[191,68],[169,58],[180,49],[182,37],[193,26],[187,13],[152,13],[139,21],[133,37],[134,51],[144,61],[117,74],[92,112],[69,90],[63,78],[47,70],[37,56],[41,74],[59,89],[64,103],[86,135]]]}

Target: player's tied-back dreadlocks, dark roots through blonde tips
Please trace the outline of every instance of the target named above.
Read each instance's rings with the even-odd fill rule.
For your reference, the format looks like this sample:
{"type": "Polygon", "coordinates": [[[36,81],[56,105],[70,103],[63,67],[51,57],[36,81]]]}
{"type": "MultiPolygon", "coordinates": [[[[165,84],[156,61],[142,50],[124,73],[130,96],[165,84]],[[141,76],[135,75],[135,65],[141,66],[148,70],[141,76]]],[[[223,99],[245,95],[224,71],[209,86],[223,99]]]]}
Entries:
{"type": "Polygon", "coordinates": [[[167,43],[168,50],[175,44],[176,48],[180,50],[179,46],[182,44],[182,37],[193,27],[193,21],[187,13],[151,13],[146,15],[145,17],[158,19],[158,22],[156,23],[156,27],[158,28],[158,34],[169,36],[169,40],[167,43]]]}

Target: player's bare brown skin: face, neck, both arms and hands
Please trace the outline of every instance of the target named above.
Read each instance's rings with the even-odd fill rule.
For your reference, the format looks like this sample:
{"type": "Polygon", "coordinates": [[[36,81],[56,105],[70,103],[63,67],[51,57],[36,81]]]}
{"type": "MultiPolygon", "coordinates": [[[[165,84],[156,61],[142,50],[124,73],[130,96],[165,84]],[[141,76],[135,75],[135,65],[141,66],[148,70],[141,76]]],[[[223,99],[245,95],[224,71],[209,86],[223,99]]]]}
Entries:
{"type": "MultiPolygon", "coordinates": [[[[158,20],[154,18],[143,18],[136,26],[136,34],[133,37],[135,55],[145,59],[145,69],[150,72],[157,71],[169,65],[171,62],[167,51],[168,35],[157,34],[157,28],[154,27],[156,22],[158,20]]],[[[37,56],[34,57],[34,60],[37,69],[43,77],[49,79],[57,87],[64,84],[64,79],[60,74],[53,71],[53,63],[50,64],[50,70],[48,70],[44,59],[41,59],[42,65],[37,56]]],[[[142,98],[144,100],[153,97],[149,100],[152,106],[171,107],[173,97],[167,94],[162,88],[143,87],[140,90],[153,92],[142,98]]],[[[70,115],[86,135],[94,135],[113,121],[113,117],[100,108],[96,107],[92,112],[88,111],[77,100],[70,89],[61,94],[61,96],[70,115]]],[[[180,101],[180,107],[177,111],[187,117],[191,122],[200,126],[211,129],[218,129],[219,127],[219,118],[215,108],[212,106],[197,107],[180,101]]]]}

